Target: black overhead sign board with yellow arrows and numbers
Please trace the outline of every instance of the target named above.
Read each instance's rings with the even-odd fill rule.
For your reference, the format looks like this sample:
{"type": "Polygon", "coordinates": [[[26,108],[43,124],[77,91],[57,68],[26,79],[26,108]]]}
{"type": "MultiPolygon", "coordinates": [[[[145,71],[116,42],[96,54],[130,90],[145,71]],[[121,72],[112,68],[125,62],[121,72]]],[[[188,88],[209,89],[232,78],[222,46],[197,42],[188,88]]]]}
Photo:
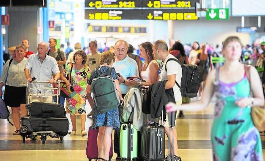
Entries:
{"type": "Polygon", "coordinates": [[[85,0],[85,19],[197,20],[197,0],[85,0]]]}

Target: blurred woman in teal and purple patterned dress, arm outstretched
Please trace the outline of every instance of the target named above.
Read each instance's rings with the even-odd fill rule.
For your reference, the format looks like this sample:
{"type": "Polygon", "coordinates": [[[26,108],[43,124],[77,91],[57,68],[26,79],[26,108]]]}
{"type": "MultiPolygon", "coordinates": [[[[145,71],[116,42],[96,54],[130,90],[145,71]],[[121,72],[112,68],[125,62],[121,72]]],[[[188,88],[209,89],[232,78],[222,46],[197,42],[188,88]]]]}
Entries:
{"type": "Polygon", "coordinates": [[[182,106],[172,103],[166,106],[167,111],[202,110],[215,92],[217,101],[211,131],[214,161],[263,161],[260,132],[251,118],[251,107],[264,105],[262,84],[253,66],[245,68],[239,62],[241,52],[240,39],[228,37],[222,50],[226,62],[210,72],[202,99],[182,106]],[[251,81],[246,72],[250,73],[251,81]]]}

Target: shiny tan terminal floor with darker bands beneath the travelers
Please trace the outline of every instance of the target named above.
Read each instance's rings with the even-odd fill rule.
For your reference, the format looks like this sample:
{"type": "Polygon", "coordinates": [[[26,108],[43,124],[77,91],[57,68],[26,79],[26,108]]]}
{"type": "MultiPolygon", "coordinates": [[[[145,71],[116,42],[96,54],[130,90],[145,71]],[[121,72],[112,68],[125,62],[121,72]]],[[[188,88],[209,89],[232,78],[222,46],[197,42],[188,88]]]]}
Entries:
{"type": "MultiPolygon", "coordinates": [[[[184,114],[184,118],[177,119],[176,127],[182,161],[212,161],[210,131],[213,103],[203,111],[185,111],[184,114]]],[[[87,118],[86,130],[91,123],[92,119],[87,118]]],[[[14,127],[6,120],[0,120],[0,161],[88,161],[85,155],[87,136],[80,136],[80,119],[77,120],[77,125],[77,135],[65,136],[62,143],[59,139],[49,137],[45,144],[42,144],[40,139],[26,139],[26,142],[22,143],[20,136],[12,135],[14,127]]],[[[264,134],[262,140],[265,149],[264,134]]],[[[167,147],[166,141],[165,154],[168,154],[167,147]]],[[[263,152],[265,154],[265,150],[263,152]]],[[[115,158],[116,154],[112,160],[115,158]]]]}

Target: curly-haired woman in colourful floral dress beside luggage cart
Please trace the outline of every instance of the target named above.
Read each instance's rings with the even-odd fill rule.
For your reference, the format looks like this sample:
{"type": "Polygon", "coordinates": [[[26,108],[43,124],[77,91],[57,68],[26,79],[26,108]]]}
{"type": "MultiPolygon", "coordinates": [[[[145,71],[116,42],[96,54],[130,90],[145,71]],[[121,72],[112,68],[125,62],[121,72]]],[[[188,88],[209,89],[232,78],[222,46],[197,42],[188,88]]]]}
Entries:
{"type": "Polygon", "coordinates": [[[88,65],[86,65],[87,55],[84,51],[77,51],[73,56],[74,63],[69,63],[65,69],[66,74],[71,75],[70,80],[66,79],[62,74],[62,79],[66,82],[67,88],[70,91],[70,86],[73,87],[74,92],[66,99],[67,108],[70,112],[70,117],[73,125],[71,135],[76,134],[76,115],[80,115],[81,118],[81,136],[87,135],[85,131],[86,122],[86,100],[87,100],[87,79],[88,79],[88,65]],[[72,72],[71,71],[72,67],[72,72]]]}

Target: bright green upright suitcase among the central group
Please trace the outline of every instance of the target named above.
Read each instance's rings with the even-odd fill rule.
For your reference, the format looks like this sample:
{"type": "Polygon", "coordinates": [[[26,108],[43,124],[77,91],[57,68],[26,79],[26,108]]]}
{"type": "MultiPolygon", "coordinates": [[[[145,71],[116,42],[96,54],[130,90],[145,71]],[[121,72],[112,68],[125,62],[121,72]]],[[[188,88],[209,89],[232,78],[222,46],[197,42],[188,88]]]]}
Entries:
{"type": "Polygon", "coordinates": [[[120,153],[122,161],[137,159],[137,130],[131,123],[121,126],[120,153]]]}

